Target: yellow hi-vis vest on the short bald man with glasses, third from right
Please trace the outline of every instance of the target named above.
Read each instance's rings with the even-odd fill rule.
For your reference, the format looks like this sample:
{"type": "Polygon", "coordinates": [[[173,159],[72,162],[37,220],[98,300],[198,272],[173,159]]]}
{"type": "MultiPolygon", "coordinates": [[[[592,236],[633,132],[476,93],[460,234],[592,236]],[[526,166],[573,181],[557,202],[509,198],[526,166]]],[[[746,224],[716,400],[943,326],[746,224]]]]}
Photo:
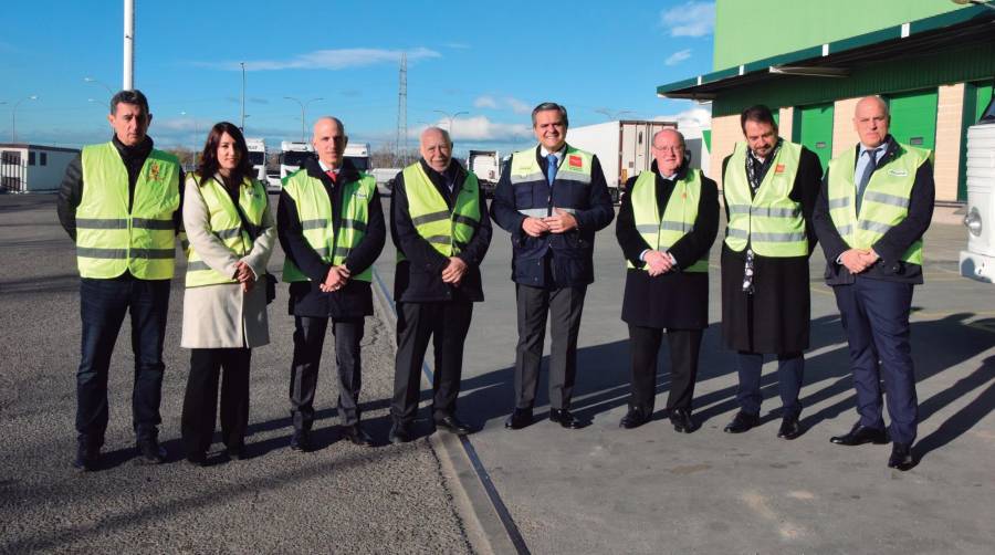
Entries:
{"type": "MultiPolygon", "coordinates": [[[[632,218],[639,235],[654,251],[666,252],[679,239],[694,229],[698,218],[698,205],[701,199],[701,171],[688,170],[683,179],[673,184],[673,192],[660,217],[657,207],[657,175],[642,171],[632,185],[629,193],[632,199],[632,218]]],[[[636,268],[626,261],[628,268],[636,268]]],[[[649,272],[649,265],[642,268],[649,272]]],[[[708,272],[709,254],[683,270],[684,272],[708,272]]]]}

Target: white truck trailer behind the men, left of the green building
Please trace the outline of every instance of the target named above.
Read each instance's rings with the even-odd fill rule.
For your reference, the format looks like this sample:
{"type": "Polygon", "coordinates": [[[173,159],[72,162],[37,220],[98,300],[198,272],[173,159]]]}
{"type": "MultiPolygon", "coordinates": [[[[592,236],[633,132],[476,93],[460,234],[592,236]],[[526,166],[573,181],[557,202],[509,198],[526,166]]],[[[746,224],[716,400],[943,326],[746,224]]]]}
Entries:
{"type": "Polygon", "coordinates": [[[677,123],[643,119],[606,122],[570,127],[567,143],[598,157],[611,200],[618,202],[626,181],[652,165],[650,146],[653,135],[668,127],[677,129],[677,123]]]}

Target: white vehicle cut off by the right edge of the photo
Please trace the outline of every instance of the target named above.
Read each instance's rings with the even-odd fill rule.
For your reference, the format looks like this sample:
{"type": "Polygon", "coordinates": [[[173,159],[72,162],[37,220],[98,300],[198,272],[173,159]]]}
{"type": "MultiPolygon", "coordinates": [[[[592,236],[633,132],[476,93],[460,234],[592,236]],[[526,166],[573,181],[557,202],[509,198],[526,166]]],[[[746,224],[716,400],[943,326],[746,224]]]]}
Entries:
{"type": "Polygon", "coordinates": [[[961,275],[995,283],[995,100],[967,128],[967,250],[961,275]]]}

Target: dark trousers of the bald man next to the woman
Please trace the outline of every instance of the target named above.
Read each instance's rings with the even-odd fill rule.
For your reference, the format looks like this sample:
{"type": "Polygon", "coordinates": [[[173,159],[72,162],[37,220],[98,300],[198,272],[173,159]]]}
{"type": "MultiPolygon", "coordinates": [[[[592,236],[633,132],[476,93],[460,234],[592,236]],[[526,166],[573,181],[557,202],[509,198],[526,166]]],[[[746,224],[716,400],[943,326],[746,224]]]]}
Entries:
{"type": "MultiPolygon", "coordinates": [[[[335,366],[338,368],[338,417],[343,426],[359,422],[359,389],[363,387],[359,342],[364,324],[364,318],[332,322],[335,366]]],[[[314,423],[314,392],[327,328],[328,318],[294,317],[290,398],[295,430],[308,431],[314,423]]]]}

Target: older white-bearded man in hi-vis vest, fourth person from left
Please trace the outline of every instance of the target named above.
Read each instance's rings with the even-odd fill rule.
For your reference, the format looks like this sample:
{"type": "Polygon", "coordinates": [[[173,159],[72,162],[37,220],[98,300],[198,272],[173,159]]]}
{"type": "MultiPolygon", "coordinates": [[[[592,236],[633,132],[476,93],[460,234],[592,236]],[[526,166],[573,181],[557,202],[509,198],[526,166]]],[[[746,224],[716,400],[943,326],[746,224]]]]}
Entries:
{"type": "Polygon", "coordinates": [[[480,263],[491,244],[491,223],[476,176],[452,159],[444,129],[421,134],[421,159],[398,174],[390,209],[397,245],[397,359],[389,439],[415,438],[421,366],[429,338],[434,347],[432,420],[436,428],[467,434],[457,417],[463,342],[473,303],[483,301],[480,263]]]}

